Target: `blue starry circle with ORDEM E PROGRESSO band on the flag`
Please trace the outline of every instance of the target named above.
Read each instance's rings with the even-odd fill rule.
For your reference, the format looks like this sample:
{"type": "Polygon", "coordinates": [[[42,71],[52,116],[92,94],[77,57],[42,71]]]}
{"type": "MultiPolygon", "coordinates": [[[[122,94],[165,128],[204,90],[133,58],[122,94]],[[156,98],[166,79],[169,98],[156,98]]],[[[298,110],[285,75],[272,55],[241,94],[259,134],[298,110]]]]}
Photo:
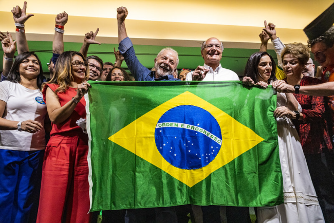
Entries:
{"type": "Polygon", "coordinates": [[[220,150],[220,126],[207,110],[180,105],[159,119],[155,143],[163,158],[173,166],[199,169],[214,160],[220,150]]]}

